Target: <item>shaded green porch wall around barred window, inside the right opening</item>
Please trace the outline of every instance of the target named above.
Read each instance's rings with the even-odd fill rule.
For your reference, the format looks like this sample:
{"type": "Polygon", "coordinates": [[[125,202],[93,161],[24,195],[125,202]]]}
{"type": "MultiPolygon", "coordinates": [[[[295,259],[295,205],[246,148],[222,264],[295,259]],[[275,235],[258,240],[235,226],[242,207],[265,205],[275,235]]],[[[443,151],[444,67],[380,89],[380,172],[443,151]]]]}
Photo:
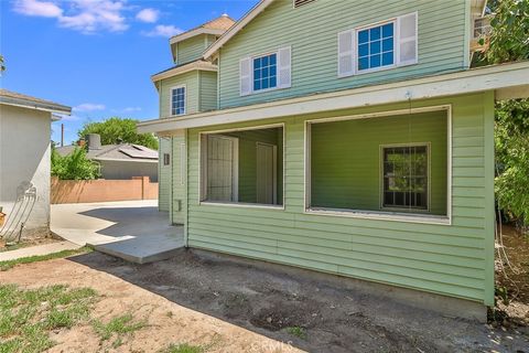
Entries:
{"type": "Polygon", "coordinates": [[[312,125],[312,205],[379,211],[381,146],[429,143],[430,213],[446,215],[446,126],[445,111],[312,125]]]}

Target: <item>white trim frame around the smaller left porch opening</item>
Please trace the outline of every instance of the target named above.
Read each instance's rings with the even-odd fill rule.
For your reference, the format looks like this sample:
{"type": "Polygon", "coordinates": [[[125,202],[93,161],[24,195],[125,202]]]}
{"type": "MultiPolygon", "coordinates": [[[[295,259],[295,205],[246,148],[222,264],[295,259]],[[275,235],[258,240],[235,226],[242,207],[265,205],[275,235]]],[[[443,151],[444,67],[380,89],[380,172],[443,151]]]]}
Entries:
{"type": "MultiPolygon", "coordinates": [[[[220,207],[242,207],[242,208],[268,208],[268,210],[280,210],[284,211],[284,200],[285,200],[285,131],[284,131],[284,122],[279,124],[271,124],[271,125],[260,125],[260,126],[252,126],[246,128],[233,128],[233,129],[224,129],[224,130],[209,130],[209,131],[201,131],[198,132],[198,205],[207,205],[207,206],[220,206],[220,207]],[[203,201],[203,190],[204,190],[204,151],[202,150],[202,140],[204,135],[213,135],[213,133],[226,133],[226,132],[237,132],[237,131],[248,131],[248,130],[261,130],[261,129],[272,129],[272,128],[282,128],[283,129],[283,193],[282,193],[282,204],[281,205],[267,205],[267,204],[255,204],[255,203],[244,203],[244,202],[216,202],[216,201],[203,201]]],[[[238,179],[238,175],[237,175],[238,179]]],[[[237,181],[238,182],[238,181],[237,181]]]]}

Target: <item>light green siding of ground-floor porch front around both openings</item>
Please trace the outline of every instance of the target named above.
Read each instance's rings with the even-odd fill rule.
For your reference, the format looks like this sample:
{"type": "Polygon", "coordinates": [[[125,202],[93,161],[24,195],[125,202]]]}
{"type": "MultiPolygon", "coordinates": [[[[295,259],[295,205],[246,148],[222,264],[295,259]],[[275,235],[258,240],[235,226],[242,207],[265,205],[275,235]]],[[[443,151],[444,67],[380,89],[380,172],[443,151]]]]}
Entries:
{"type": "Polygon", "coordinates": [[[479,94],[413,104],[453,107],[452,225],[303,213],[304,121],[381,107],[191,129],[188,245],[492,304],[494,173],[485,153],[493,142],[492,101],[479,94]],[[198,132],[274,122],[285,124],[284,210],[201,205],[198,132]]]}

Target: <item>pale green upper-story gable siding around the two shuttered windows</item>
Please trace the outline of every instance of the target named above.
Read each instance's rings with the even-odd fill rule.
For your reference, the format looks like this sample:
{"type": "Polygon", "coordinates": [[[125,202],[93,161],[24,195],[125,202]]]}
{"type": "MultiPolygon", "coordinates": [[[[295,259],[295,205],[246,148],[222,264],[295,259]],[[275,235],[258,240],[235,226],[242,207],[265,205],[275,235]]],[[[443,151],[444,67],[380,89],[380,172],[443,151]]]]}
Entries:
{"type": "Polygon", "coordinates": [[[277,0],[220,50],[219,107],[284,99],[466,68],[467,1],[277,0]],[[337,77],[337,33],[419,12],[419,64],[337,77]],[[292,46],[292,87],[239,96],[239,61],[292,46]]]}

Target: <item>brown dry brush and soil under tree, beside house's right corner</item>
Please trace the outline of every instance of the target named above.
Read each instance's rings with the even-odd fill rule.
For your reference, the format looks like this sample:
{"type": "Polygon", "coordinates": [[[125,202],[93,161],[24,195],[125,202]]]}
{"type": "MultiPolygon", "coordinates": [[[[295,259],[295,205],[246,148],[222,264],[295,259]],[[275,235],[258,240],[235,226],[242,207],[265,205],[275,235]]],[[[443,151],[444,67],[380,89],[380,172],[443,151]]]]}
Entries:
{"type": "Polygon", "coordinates": [[[506,296],[497,296],[503,325],[529,325],[529,235],[515,227],[503,226],[503,239],[507,259],[496,260],[496,287],[506,296]],[[504,302],[503,298],[507,301],[504,302]]]}

